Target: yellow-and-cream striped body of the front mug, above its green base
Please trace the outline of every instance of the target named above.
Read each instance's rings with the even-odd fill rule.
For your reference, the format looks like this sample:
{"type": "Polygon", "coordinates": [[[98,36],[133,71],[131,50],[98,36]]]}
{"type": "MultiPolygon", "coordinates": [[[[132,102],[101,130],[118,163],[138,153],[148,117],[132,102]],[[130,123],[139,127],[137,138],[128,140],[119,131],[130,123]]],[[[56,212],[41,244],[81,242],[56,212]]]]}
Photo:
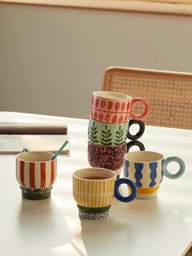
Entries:
{"type": "Polygon", "coordinates": [[[85,180],[72,177],[73,196],[77,205],[104,207],[111,205],[114,197],[115,177],[111,179],[85,180]]]}

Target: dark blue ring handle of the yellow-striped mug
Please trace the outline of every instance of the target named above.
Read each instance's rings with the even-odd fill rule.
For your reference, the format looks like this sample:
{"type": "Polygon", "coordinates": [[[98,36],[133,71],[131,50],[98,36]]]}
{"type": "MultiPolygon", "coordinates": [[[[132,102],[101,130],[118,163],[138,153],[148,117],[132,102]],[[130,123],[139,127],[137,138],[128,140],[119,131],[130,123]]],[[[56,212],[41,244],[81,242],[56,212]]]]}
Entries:
{"type": "Polygon", "coordinates": [[[114,195],[115,195],[116,199],[118,199],[119,201],[128,203],[129,201],[133,201],[133,199],[137,196],[137,187],[136,187],[135,183],[133,183],[133,181],[130,179],[126,179],[126,178],[118,179],[118,180],[116,180],[116,183],[115,183],[114,195]],[[129,196],[125,196],[125,197],[121,196],[120,192],[119,192],[120,184],[124,184],[124,183],[129,185],[129,187],[131,188],[131,194],[129,196]]]}

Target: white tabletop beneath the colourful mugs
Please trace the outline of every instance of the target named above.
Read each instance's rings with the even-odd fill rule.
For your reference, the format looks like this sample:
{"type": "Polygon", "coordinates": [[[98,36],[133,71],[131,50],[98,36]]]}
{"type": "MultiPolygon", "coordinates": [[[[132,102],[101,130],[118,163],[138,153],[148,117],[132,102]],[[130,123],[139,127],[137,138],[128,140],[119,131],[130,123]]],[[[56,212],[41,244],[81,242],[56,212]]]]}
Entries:
{"type": "MultiPolygon", "coordinates": [[[[88,121],[20,113],[0,113],[6,121],[63,121],[70,154],[58,157],[50,200],[22,200],[15,179],[15,156],[0,156],[0,255],[2,256],[181,256],[192,241],[192,130],[146,126],[146,149],[179,156],[186,165],[177,180],[164,178],[158,198],[116,201],[104,220],[81,220],[72,197],[72,172],[89,166],[88,121]]],[[[170,165],[171,167],[171,165],[170,165]]]]}

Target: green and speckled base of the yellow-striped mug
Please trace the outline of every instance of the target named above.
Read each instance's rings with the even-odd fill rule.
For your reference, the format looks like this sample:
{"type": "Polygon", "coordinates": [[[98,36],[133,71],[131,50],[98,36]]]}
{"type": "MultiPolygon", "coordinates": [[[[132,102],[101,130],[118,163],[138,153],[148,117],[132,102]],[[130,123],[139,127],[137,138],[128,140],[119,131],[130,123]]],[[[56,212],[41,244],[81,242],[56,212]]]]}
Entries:
{"type": "Polygon", "coordinates": [[[79,209],[80,218],[103,219],[108,217],[109,209],[111,205],[108,205],[106,207],[98,207],[98,208],[85,207],[81,205],[77,205],[77,207],[79,209]]]}

